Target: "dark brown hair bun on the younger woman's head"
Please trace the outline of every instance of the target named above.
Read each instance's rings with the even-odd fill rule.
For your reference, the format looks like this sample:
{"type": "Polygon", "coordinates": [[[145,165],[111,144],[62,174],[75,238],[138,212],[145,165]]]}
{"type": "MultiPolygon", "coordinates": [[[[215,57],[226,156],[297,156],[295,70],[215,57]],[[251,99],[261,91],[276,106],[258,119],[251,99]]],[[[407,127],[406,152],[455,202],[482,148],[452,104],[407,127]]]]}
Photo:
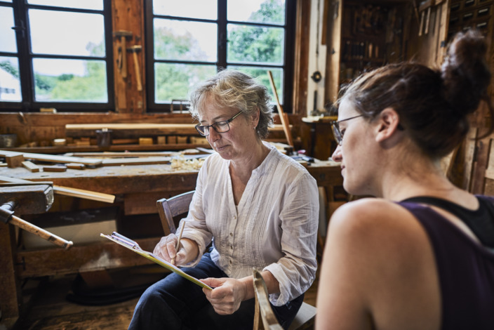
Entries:
{"type": "Polygon", "coordinates": [[[458,33],[441,67],[443,97],[458,114],[474,112],[486,95],[490,72],[486,63],[486,41],[481,32],[458,33]]]}

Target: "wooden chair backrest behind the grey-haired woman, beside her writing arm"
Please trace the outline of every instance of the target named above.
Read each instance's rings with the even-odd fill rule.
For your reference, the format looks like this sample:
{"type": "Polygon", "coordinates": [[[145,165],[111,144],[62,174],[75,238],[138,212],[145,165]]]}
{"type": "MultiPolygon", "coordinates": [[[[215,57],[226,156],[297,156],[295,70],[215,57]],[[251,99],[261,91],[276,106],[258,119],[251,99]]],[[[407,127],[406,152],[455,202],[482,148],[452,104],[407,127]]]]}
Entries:
{"type": "Polygon", "coordinates": [[[156,201],[156,208],[158,209],[159,219],[161,220],[165,236],[171,233],[175,234],[178,223],[175,223],[173,218],[189,211],[189,205],[193,195],[194,190],[156,201]]]}

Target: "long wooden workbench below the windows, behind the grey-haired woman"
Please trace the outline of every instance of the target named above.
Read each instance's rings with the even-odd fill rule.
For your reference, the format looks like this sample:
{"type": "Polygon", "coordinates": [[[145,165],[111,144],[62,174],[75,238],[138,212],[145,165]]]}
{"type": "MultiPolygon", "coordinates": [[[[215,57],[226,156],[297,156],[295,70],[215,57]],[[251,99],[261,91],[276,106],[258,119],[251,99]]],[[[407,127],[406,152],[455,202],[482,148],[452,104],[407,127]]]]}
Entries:
{"type": "MultiPolygon", "coordinates": [[[[307,166],[319,187],[326,188],[328,200],[333,198],[333,187],[342,185],[340,165],[319,161],[307,166]]],[[[116,195],[115,204],[123,207],[124,215],[156,214],[156,200],[194,190],[198,171],[172,169],[169,164],[105,166],[83,171],[31,173],[20,168],[0,168],[0,176],[32,181],[52,181],[54,185],[74,187],[116,195]]],[[[58,197],[55,195],[55,201],[58,197]]],[[[113,204],[108,204],[112,206],[113,204]]],[[[22,216],[22,215],[18,215],[22,216]]],[[[139,226],[138,224],[135,224],[139,226]]],[[[161,225],[159,225],[161,226],[161,225]]],[[[43,227],[43,224],[39,224],[43,227]]],[[[153,237],[136,239],[142,249],[152,251],[162,232],[153,237]]],[[[99,233],[98,233],[99,235],[99,233]]],[[[133,238],[133,237],[130,237],[133,238]]],[[[70,239],[67,237],[67,239],[70,239]]],[[[30,277],[74,274],[110,268],[147,265],[150,262],[112,242],[74,244],[63,250],[56,246],[44,249],[19,249],[12,225],[0,224],[0,297],[2,317],[18,317],[22,308],[20,280],[30,277]]]]}

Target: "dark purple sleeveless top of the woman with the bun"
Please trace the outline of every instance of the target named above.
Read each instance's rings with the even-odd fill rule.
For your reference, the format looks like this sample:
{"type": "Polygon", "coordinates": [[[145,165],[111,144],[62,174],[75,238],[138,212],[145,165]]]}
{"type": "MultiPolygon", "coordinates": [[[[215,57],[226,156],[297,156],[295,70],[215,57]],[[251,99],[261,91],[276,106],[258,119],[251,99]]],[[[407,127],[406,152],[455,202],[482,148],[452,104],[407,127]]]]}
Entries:
{"type": "MultiPolygon", "coordinates": [[[[467,225],[469,222],[494,224],[494,198],[477,196],[477,199],[480,206],[476,211],[441,201],[452,204],[455,211],[458,211],[458,208],[462,209],[462,216],[458,217],[464,220],[465,216],[468,216],[468,219],[464,220],[467,225]]],[[[481,245],[475,242],[449,220],[430,207],[417,204],[418,202],[418,199],[408,199],[398,204],[408,209],[419,220],[432,244],[441,289],[441,329],[493,330],[494,250],[486,247],[490,244],[481,245]]],[[[439,207],[450,211],[448,206],[443,206],[439,207]]],[[[458,214],[454,211],[451,213],[458,214]]],[[[486,228],[484,234],[490,231],[489,225],[486,225],[486,228]]],[[[479,232],[478,228],[471,229],[479,232]]],[[[489,239],[489,235],[483,236],[489,239]]],[[[493,238],[494,236],[490,237],[493,238]]]]}

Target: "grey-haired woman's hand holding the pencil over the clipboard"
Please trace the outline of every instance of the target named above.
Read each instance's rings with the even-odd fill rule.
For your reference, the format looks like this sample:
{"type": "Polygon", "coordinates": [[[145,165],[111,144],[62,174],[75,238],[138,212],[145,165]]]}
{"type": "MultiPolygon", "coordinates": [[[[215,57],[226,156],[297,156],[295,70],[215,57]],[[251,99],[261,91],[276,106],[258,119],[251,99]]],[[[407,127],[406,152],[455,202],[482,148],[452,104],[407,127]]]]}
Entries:
{"type": "Polygon", "coordinates": [[[171,263],[171,260],[175,258],[175,265],[177,266],[186,265],[197,257],[199,246],[196,242],[182,238],[180,239],[180,246],[176,249],[177,242],[178,237],[175,234],[161,237],[154,247],[154,255],[168,261],[168,263],[171,263]]]}

